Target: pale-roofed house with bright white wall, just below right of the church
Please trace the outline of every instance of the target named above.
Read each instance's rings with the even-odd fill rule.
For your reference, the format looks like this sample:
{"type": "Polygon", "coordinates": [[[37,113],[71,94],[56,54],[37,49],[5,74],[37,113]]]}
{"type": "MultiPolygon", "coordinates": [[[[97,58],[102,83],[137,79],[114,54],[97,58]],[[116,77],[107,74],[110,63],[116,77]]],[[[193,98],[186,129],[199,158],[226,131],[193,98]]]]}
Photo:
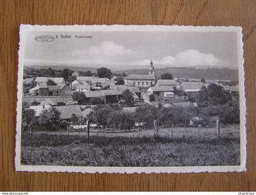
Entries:
{"type": "Polygon", "coordinates": [[[173,98],[174,88],[168,85],[149,87],[148,92],[155,93],[159,98],[173,98]]]}

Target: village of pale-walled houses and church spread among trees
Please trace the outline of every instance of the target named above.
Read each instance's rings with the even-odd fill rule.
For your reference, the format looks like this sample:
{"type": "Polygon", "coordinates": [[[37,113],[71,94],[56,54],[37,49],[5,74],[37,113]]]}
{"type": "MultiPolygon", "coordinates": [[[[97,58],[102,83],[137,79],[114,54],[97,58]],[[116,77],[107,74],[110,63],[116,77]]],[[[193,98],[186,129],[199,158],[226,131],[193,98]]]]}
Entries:
{"type": "MultiPolygon", "coordinates": [[[[220,87],[220,90],[224,90],[225,93],[236,97],[236,99],[238,97],[238,85],[230,85],[230,80],[172,78],[171,74],[168,73],[164,73],[158,79],[155,77],[152,61],[149,65],[148,74],[145,75],[80,76],[79,71],[73,71],[69,73],[66,79],[64,77],[27,77],[23,80],[23,124],[30,130],[32,126],[40,126],[37,119],[43,113],[54,108],[59,113],[59,125],[52,124],[55,130],[85,129],[88,120],[91,121],[90,127],[92,129],[103,128],[107,124],[108,127],[113,124],[112,127],[119,130],[151,127],[154,119],[146,118],[144,114],[143,116],[140,115],[138,113],[140,109],[148,109],[144,109],[144,112],[152,112],[152,109],[158,107],[176,110],[192,108],[195,110],[198,106],[195,97],[210,85],[220,87]],[[119,113],[117,118],[124,113],[124,118],[131,118],[129,115],[133,115],[134,119],[129,121],[131,124],[124,125],[124,119],[115,121],[116,118],[113,119],[107,115],[102,117],[108,118],[108,121],[107,119],[97,119],[97,116],[93,118],[93,112],[99,105],[110,105],[111,109],[113,105],[117,105],[117,109],[110,109],[109,112],[118,110],[121,114],[119,113]],[[27,113],[27,110],[30,113],[27,113]],[[123,123],[123,125],[119,123],[123,123]]],[[[183,112],[185,111],[183,110],[183,112]]],[[[162,113],[162,111],[160,114],[156,112],[155,115],[159,118],[158,116],[162,113]]],[[[159,125],[168,126],[168,120],[170,120],[169,126],[172,127],[184,123],[187,123],[188,126],[205,126],[206,124],[200,115],[200,113],[198,116],[191,114],[186,116],[187,118],[183,116],[185,121],[181,119],[181,121],[176,120],[176,122],[174,122],[175,117],[172,117],[171,120],[168,119],[167,115],[163,116],[164,119],[160,119],[162,122],[159,122],[159,125]]]]}

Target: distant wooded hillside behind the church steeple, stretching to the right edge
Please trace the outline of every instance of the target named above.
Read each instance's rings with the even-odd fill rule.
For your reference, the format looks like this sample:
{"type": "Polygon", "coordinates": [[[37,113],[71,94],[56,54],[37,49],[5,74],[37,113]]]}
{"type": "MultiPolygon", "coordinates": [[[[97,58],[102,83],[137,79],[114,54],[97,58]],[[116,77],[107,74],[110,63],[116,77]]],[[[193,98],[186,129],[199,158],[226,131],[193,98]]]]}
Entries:
{"type": "MultiPolygon", "coordinates": [[[[148,74],[148,69],[128,69],[123,71],[115,71],[114,73],[129,74],[148,74]]],[[[193,79],[225,79],[238,81],[238,70],[228,68],[159,68],[155,69],[155,76],[160,77],[163,73],[171,73],[177,78],[193,78],[193,79]]]]}

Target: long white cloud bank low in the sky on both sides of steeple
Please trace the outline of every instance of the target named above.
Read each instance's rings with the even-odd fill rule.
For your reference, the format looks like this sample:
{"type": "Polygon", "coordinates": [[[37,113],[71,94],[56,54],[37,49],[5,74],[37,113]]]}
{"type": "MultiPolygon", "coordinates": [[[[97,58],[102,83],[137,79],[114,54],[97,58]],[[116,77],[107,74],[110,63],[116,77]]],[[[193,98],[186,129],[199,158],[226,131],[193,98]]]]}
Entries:
{"type": "MultiPolygon", "coordinates": [[[[141,56],[143,55],[140,52],[125,48],[123,45],[103,41],[98,46],[76,49],[55,59],[25,59],[25,64],[148,66],[151,59],[141,60],[141,56]]],[[[205,54],[196,49],[187,49],[176,56],[166,55],[161,59],[152,59],[152,61],[154,65],[165,66],[215,66],[224,63],[223,60],[216,59],[213,54],[205,54]]]]}

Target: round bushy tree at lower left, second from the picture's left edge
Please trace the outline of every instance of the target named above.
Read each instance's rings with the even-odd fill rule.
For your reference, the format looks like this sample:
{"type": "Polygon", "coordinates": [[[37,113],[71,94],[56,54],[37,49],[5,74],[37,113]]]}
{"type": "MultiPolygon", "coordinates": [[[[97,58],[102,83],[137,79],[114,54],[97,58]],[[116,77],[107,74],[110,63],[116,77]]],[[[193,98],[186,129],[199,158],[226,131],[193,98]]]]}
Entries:
{"type": "Polygon", "coordinates": [[[57,130],[60,124],[60,112],[54,107],[43,110],[38,118],[38,122],[44,129],[57,130]]]}

